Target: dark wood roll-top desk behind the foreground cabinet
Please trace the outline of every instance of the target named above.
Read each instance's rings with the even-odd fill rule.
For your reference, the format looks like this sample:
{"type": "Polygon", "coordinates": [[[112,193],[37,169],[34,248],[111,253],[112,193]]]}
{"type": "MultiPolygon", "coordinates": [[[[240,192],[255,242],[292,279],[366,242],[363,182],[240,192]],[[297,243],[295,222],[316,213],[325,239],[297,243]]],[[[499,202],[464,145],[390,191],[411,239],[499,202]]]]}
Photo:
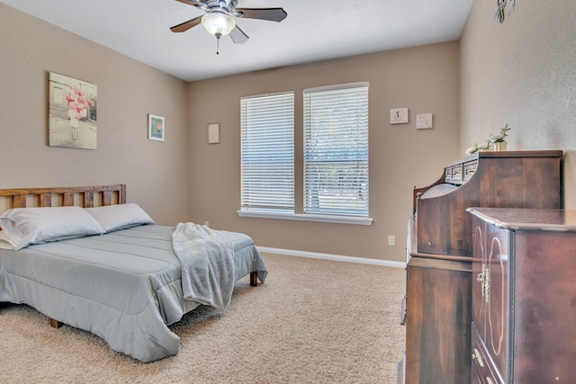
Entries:
{"type": "Polygon", "coordinates": [[[562,156],[560,150],[481,152],[414,188],[399,382],[470,382],[473,224],[466,209],[562,208],[562,156]]]}

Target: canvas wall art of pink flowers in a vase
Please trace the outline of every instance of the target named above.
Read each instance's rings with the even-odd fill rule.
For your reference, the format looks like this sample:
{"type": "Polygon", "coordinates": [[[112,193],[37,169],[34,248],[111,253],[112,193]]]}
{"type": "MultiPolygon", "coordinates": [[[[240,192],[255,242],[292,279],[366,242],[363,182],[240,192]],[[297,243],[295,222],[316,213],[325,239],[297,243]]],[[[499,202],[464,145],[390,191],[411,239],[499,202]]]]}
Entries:
{"type": "Polygon", "coordinates": [[[49,146],[96,149],[96,85],[49,73],[49,146]]]}

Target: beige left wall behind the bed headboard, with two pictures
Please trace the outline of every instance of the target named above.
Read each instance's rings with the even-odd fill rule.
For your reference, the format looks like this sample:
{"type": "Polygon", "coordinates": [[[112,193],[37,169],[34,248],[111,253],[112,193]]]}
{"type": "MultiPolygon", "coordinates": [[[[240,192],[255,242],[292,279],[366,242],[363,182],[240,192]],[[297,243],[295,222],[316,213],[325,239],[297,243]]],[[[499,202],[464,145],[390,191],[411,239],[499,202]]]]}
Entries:
{"type": "Polygon", "coordinates": [[[126,183],[158,224],[187,218],[186,83],[0,4],[0,188],[126,183]],[[97,149],[49,147],[48,72],[98,87],[97,149]],[[148,140],[147,114],[166,118],[148,140]]]}

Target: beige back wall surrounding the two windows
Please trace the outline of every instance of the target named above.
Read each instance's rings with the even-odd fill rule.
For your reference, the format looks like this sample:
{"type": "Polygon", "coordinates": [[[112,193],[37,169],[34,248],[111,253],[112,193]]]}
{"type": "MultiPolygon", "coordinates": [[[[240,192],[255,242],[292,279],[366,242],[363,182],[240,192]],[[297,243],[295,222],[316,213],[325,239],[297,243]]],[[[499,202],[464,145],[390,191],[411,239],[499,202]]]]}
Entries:
{"type": "Polygon", "coordinates": [[[458,157],[458,55],[458,43],[447,42],[191,83],[191,219],[245,232],[259,246],[404,261],[412,188],[436,181],[442,166],[458,157]],[[240,97],[295,92],[296,207],[302,212],[302,90],[358,81],[370,83],[374,224],[239,218],[240,97]],[[410,109],[410,123],[391,125],[390,109],[400,107],[410,109]],[[415,129],[416,113],[433,113],[434,129],[415,129]],[[220,122],[220,144],[207,144],[210,122],[220,122]],[[388,236],[396,246],[388,246],[388,236]]]}

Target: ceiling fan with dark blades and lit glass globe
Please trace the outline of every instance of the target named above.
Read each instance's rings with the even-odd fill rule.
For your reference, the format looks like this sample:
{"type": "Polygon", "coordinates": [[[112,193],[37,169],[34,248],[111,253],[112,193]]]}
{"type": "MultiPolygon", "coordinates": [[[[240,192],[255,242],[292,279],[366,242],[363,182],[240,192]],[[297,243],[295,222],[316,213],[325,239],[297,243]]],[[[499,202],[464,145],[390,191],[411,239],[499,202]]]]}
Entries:
{"type": "MultiPolygon", "coordinates": [[[[216,36],[229,35],[236,44],[245,43],[248,36],[236,25],[233,17],[268,20],[271,22],[282,22],[288,13],[283,8],[237,8],[238,0],[176,0],[180,3],[193,5],[201,9],[206,14],[194,17],[192,20],[182,22],[170,28],[173,32],[188,31],[192,27],[202,23],[202,26],[216,36]]],[[[218,49],[216,50],[218,53],[218,49]]]]}

